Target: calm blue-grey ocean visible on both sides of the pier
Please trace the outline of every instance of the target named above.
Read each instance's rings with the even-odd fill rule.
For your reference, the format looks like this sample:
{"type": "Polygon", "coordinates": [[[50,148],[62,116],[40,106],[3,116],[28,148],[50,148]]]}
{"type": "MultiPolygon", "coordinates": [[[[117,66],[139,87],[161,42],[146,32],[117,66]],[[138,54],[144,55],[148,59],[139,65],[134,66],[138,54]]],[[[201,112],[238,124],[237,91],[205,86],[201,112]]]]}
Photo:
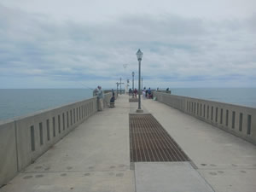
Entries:
{"type": "MultiPolygon", "coordinates": [[[[180,88],[172,95],[190,96],[256,108],[256,88],[180,88]]],[[[92,97],[89,89],[0,89],[0,120],[55,108],[92,97]]]]}

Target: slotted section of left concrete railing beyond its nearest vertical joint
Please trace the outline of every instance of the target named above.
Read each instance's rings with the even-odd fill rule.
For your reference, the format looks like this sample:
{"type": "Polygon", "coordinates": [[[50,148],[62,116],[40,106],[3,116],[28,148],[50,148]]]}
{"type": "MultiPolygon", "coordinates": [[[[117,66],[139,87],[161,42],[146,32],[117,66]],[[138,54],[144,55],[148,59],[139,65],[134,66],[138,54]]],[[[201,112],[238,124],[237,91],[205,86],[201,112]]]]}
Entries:
{"type": "Polygon", "coordinates": [[[19,171],[29,166],[34,160],[37,160],[40,155],[44,154],[50,147],[60,141],[62,137],[65,137],[70,131],[83,123],[85,119],[94,113],[96,113],[96,98],[91,98],[82,102],[74,102],[60,108],[45,110],[43,113],[37,112],[26,118],[16,120],[19,171]],[[74,111],[76,111],[76,118],[74,118],[74,113],[71,113],[74,111]],[[87,113],[85,113],[85,111],[87,113]],[[53,135],[53,118],[55,118],[55,137],[53,135]],[[58,118],[60,118],[60,122],[58,122],[58,118]],[[49,120],[49,140],[47,137],[47,120],[49,120]],[[40,123],[43,129],[43,144],[40,143],[39,137],[40,123]],[[34,127],[34,151],[32,151],[31,126],[34,127]]]}

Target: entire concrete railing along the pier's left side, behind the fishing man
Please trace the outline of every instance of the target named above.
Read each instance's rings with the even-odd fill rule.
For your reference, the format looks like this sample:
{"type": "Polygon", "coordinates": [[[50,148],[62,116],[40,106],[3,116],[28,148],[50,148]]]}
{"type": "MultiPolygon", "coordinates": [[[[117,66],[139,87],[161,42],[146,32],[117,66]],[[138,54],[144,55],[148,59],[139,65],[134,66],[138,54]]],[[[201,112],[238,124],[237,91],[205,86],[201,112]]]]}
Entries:
{"type": "MultiPolygon", "coordinates": [[[[112,94],[105,94],[109,102],[112,94]]],[[[0,122],[0,187],[97,112],[97,98],[0,122]]]]}

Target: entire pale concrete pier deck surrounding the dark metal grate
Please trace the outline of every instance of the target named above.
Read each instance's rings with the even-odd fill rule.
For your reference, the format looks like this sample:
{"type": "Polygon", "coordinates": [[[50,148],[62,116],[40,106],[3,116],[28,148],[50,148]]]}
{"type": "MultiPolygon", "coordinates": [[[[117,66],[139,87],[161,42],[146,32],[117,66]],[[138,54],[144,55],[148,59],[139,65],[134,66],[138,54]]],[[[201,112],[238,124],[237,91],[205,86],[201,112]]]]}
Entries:
{"type": "Polygon", "coordinates": [[[256,191],[253,144],[152,100],[143,100],[143,109],[154,115],[191,163],[132,166],[129,113],[136,105],[128,96],[119,96],[115,108],[84,121],[0,191],[256,191]]]}

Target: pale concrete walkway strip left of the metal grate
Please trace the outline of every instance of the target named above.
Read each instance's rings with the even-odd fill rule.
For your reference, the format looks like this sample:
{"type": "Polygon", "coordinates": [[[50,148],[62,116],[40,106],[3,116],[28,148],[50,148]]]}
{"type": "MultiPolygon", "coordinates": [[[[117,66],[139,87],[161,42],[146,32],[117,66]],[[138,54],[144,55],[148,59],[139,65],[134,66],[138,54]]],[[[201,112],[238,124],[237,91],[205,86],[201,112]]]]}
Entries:
{"type": "Polygon", "coordinates": [[[84,121],[0,191],[135,191],[127,97],[115,106],[84,121]]]}

